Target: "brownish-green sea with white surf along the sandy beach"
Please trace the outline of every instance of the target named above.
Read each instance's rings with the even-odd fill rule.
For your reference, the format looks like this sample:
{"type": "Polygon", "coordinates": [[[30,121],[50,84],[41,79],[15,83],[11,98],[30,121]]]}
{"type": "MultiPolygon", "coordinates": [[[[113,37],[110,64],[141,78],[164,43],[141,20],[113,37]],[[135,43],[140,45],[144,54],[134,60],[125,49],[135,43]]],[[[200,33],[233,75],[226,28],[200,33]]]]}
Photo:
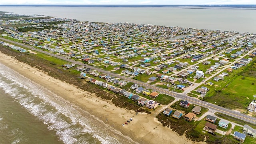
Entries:
{"type": "Polygon", "coordinates": [[[0,144],[121,143],[132,140],[0,63],[0,144]]]}

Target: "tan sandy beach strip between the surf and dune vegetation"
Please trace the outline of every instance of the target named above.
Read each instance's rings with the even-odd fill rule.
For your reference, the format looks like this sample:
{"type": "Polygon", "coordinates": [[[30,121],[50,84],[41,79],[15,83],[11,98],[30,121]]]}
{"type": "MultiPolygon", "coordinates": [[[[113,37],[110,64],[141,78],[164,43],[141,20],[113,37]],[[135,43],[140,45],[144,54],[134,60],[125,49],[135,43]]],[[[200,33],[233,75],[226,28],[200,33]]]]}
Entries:
{"type": "Polygon", "coordinates": [[[170,130],[170,128],[163,127],[152,115],[143,113],[135,115],[134,111],[118,108],[114,104],[111,104],[110,101],[99,99],[89,92],[82,91],[70,84],[56,80],[48,76],[45,72],[40,72],[36,68],[19,62],[10,56],[0,54],[2,64],[68,100],[70,103],[79,106],[82,110],[94,115],[97,120],[102,121],[108,127],[112,127],[112,129],[120,131],[123,135],[130,137],[137,143],[195,143],[188,140],[184,135],[179,136],[176,132],[170,130]],[[133,121],[128,125],[122,126],[129,118],[133,118],[133,121]]]}

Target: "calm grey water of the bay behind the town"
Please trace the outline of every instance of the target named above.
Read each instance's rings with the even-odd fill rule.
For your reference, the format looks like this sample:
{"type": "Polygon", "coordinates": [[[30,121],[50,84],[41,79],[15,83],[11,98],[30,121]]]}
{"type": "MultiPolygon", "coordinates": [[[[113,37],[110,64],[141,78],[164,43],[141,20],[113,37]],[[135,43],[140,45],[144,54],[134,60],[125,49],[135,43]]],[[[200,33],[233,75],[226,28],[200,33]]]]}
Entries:
{"type": "Polygon", "coordinates": [[[256,33],[256,9],[199,6],[0,6],[0,11],[88,22],[128,22],[256,33]]]}

